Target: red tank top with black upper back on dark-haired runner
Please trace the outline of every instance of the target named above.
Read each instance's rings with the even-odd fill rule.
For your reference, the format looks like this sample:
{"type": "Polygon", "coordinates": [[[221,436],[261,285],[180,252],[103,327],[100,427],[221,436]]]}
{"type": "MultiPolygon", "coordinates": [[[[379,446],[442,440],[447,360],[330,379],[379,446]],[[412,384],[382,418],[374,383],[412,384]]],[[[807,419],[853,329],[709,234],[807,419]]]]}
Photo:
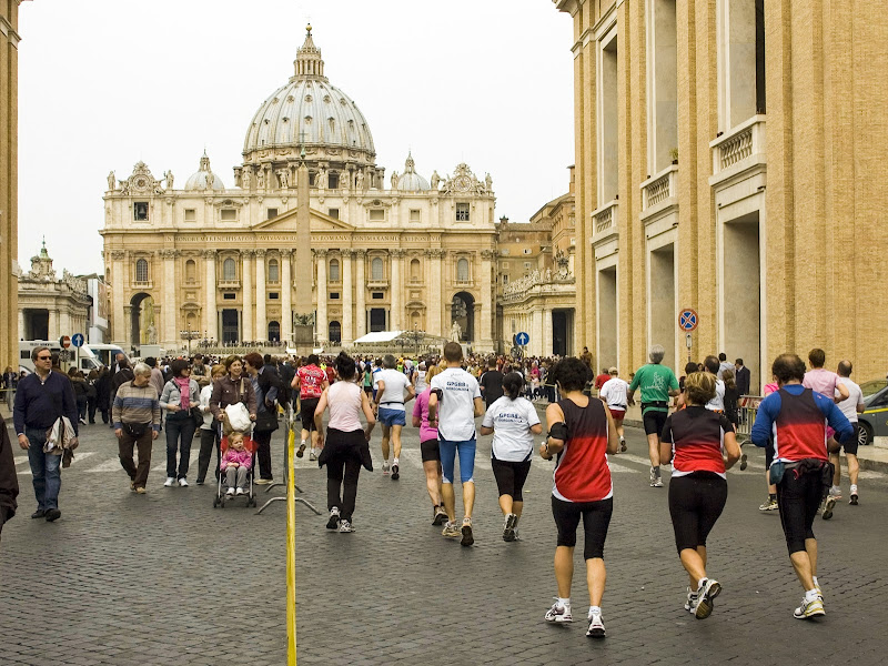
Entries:
{"type": "Polygon", "coordinates": [[[581,407],[558,401],[567,425],[567,442],[558,454],[552,494],[565,502],[598,502],[614,495],[607,466],[607,415],[604,403],[589,398],[581,407]]]}

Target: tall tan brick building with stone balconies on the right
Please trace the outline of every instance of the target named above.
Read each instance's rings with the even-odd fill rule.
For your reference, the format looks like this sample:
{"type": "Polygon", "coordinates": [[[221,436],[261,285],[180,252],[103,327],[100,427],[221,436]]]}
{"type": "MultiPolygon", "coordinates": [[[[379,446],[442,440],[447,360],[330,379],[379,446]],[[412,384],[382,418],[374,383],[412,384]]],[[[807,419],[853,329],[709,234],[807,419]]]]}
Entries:
{"type": "Polygon", "coordinates": [[[755,390],[819,346],[884,376],[884,6],[553,1],[574,23],[575,321],[596,365],[725,352],[755,390]]]}

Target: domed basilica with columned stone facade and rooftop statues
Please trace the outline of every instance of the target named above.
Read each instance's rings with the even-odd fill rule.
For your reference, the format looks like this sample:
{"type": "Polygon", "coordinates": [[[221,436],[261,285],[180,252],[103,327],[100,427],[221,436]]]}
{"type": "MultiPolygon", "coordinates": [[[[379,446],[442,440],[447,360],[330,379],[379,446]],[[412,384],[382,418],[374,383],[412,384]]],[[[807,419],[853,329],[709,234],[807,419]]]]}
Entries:
{"type": "Polygon", "coordinates": [[[493,350],[491,176],[463,163],[426,179],[408,154],[385,178],[311,27],[294,68],[248,124],[233,188],[205,153],[180,190],[141,162],[125,180],[109,173],[112,340],[291,342],[312,322],[315,343],[347,346],[383,330],[451,339],[456,324],[463,342],[493,350]]]}

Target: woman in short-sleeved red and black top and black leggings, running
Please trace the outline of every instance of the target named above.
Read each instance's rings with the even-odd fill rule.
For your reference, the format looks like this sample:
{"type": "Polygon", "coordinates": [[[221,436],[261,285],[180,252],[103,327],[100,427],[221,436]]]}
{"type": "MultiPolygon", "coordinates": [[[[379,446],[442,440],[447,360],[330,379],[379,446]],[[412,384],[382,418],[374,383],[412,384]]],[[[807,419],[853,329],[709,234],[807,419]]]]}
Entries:
{"type": "Polygon", "coordinates": [[[728,498],[725,471],[740,458],[734,426],[723,413],[705,406],[715,391],[715,375],[687,376],[687,408],[666,420],[659,450],[660,464],[673,463],[669,514],[678,556],[690,577],[685,610],[697,619],[709,617],[713,599],[722,592],[718,581],[706,575],[706,537],[728,498]]]}

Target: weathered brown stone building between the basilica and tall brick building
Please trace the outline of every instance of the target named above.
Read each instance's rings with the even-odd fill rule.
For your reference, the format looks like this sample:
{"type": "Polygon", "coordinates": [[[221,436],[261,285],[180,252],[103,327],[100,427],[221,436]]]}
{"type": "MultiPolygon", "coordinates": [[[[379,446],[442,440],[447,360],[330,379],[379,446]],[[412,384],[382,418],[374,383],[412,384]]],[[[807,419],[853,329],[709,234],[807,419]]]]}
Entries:
{"type": "Polygon", "coordinates": [[[546,203],[529,222],[500,221],[497,330],[503,351],[525,332],[531,337],[527,354],[576,353],[575,229],[573,167],[568,192],[546,203]]]}

